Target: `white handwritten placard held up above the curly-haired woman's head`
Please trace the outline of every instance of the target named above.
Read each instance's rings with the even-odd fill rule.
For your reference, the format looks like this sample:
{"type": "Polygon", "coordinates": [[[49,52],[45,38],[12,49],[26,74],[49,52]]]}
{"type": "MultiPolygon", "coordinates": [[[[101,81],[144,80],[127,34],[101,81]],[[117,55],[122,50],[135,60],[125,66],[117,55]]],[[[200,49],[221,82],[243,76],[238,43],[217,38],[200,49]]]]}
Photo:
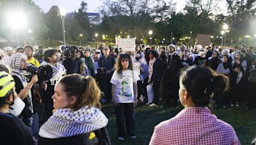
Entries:
{"type": "Polygon", "coordinates": [[[122,52],[135,51],[135,38],[116,38],[116,45],[122,48],[122,52]]]}

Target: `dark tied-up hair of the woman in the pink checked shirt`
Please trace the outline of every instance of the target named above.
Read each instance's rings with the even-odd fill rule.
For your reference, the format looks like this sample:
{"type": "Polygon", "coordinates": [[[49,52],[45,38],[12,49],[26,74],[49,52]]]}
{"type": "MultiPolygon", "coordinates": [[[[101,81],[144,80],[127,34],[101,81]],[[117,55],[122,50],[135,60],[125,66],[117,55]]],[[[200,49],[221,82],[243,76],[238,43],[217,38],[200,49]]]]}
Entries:
{"type": "Polygon", "coordinates": [[[198,107],[208,106],[214,94],[228,90],[228,78],[224,74],[202,66],[188,67],[180,75],[180,83],[188,91],[198,107]]]}

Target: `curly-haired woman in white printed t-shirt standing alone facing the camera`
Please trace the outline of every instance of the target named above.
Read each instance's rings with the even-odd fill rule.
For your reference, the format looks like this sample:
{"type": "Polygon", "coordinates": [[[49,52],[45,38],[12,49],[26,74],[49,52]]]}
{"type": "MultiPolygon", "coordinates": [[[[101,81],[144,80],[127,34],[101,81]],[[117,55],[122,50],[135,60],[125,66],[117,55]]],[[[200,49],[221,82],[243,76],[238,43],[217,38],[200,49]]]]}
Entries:
{"type": "Polygon", "coordinates": [[[137,81],[140,79],[132,70],[129,54],[121,54],[116,61],[116,70],[111,78],[112,99],[115,106],[118,140],[136,139],[134,135],[134,107],[138,102],[137,81]]]}

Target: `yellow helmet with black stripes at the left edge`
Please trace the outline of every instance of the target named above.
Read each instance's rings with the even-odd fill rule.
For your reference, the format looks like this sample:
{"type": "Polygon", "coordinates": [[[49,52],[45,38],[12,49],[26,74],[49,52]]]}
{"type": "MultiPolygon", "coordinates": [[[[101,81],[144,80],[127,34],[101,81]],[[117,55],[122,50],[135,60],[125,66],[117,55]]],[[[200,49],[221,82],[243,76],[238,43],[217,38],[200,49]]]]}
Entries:
{"type": "Polygon", "coordinates": [[[0,99],[15,86],[15,81],[7,72],[0,71],[0,99]]]}

